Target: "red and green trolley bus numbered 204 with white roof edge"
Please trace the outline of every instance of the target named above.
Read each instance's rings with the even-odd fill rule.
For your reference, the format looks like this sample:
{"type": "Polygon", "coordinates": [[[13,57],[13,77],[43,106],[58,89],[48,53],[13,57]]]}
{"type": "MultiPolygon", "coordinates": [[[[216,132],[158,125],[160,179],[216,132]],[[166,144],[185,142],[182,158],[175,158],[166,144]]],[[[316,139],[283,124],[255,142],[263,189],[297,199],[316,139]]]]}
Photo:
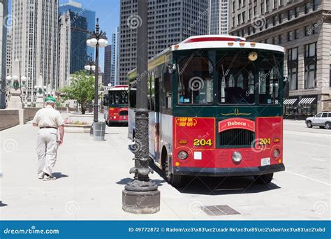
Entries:
{"type": "MultiPolygon", "coordinates": [[[[175,186],[187,175],[284,171],[284,48],[236,36],[193,36],[149,60],[149,155],[175,186]]],[[[135,137],[136,70],[128,137],[135,137]]]]}

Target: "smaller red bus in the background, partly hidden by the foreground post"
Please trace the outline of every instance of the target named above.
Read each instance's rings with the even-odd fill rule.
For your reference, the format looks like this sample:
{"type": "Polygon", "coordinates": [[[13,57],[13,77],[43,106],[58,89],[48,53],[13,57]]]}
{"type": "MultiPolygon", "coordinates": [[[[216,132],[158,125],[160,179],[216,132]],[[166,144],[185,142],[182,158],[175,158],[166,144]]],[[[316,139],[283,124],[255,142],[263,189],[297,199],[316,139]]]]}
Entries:
{"type": "Polygon", "coordinates": [[[117,85],[108,90],[103,98],[107,107],[104,117],[108,126],[128,124],[128,85],[117,85]]]}

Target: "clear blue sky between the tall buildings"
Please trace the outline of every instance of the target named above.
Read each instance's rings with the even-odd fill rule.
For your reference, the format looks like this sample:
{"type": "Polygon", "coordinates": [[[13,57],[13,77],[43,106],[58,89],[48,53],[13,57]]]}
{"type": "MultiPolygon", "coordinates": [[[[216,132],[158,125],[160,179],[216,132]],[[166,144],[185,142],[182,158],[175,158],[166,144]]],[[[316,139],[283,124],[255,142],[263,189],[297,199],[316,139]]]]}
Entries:
{"type": "MultiPolygon", "coordinates": [[[[69,0],[60,0],[59,4],[68,3],[69,0]]],[[[106,31],[108,40],[116,27],[119,27],[120,0],[75,0],[82,3],[83,8],[96,11],[96,17],[99,18],[100,29],[106,31]]],[[[103,70],[104,49],[100,51],[99,64],[103,70]]]]}

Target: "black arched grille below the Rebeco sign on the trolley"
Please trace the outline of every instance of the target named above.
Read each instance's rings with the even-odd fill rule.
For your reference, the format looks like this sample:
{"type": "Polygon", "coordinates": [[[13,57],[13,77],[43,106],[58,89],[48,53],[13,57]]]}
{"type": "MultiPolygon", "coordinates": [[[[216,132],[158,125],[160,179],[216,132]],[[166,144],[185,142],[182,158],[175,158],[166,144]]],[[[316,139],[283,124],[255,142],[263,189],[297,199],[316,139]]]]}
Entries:
{"type": "Polygon", "coordinates": [[[230,129],[219,134],[221,146],[251,145],[254,133],[246,129],[230,129]]]}

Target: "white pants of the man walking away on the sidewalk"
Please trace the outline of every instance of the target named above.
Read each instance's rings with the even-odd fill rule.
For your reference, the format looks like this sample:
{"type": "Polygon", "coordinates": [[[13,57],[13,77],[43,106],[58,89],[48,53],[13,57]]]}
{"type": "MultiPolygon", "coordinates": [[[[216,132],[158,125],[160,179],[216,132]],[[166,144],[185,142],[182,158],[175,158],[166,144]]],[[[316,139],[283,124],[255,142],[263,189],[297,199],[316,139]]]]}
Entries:
{"type": "Polygon", "coordinates": [[[37,138],[38,177],[52,175],[57,161],[57,129],[40,129],[37,138]]]}

